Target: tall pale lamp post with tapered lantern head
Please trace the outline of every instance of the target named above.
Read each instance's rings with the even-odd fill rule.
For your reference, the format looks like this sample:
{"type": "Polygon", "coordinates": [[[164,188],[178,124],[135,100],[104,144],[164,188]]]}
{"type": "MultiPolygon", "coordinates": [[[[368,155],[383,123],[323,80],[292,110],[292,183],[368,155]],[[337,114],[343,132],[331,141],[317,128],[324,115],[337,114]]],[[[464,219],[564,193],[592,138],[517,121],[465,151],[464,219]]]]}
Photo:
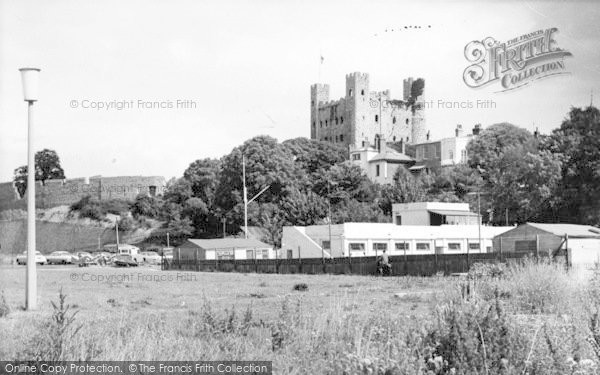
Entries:
{"type": "Polygon", "coordinates": [[[27,102],[27,273],[25,308],[37,308],[37,273],[35,264],[35,151],[33,150],[33,103],[38,99],[40,69],[22,68],[23,98],[27,102]]]}

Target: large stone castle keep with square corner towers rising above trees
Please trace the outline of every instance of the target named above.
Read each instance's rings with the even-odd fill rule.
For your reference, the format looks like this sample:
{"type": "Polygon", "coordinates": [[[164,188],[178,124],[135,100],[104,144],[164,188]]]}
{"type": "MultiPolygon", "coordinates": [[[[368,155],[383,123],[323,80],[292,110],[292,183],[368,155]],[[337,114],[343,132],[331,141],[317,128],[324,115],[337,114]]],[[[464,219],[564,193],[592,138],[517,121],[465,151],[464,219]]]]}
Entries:
{"type": "MultiPolygon", "coordinates": [[[[424,109],[424,90],[412,97],[413,78],[403,81],[403,99],[391,98],[390,91],[370,91],[368,73],[346,75],[345,96],[329,100],[329,85],[316,83],[310,88],[310,137],[348,147],[350,150],[375,145],[381,140],[417,144],[428,140],[424,109]]],[[[421,80],[421,83],[424,81],[421,80]]]]}

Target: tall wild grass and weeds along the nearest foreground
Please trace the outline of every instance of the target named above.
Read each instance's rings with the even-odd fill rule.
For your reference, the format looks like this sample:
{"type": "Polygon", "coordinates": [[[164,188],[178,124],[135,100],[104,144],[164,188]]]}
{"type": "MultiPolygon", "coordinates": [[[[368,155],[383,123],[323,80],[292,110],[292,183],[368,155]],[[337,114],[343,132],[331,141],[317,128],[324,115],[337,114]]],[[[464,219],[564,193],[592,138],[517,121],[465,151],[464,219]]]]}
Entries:
{"type": "Polygon", "coordinates": [[[354,306],[364,301],[348,293],[333,297],[323,310],[309,310],[307,291],[289,294],[269,320],[251,305],[215,309],[205,299],[199,309],[177,314],[132,315],[123,308],[84,322],[61,293],[52,316],[37,332],[26,331],[33,340],[15,343],[10,354],[60,360],[261,359],[273,361],[278,374],[596,373],[600,276],[582,285],[560,266],[534,260],[497,271],[445,279],[435,307],[420,316],[392,303],[359,314],[354,306]]]}

